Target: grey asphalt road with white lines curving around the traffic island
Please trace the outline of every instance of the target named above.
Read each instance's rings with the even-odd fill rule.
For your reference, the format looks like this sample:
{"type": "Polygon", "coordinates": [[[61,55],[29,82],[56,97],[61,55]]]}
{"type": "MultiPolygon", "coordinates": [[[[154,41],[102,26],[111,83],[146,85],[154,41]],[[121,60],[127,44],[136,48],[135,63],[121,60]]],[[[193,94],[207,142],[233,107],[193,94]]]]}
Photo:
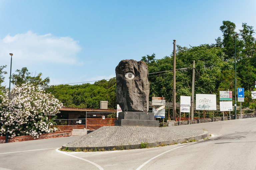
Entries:
{"type": "Polygon", "coordinates": [[[208,130],[207,140],[104,152],[60,152],[79,136],[0,144],[1,169],[256,169],[256,118],[176,126],[208,130]]]}

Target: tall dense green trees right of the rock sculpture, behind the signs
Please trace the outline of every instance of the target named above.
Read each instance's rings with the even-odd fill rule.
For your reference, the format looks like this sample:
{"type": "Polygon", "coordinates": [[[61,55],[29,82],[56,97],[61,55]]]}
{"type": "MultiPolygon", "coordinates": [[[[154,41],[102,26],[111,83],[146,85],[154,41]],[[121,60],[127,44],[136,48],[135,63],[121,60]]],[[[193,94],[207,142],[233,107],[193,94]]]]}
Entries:
{"type": "MultiPolygon", "coordinates": [[[[223,39],[218,37],[216,44],[203,44],[194,47],[181,47],[176,50],[176,101],[180,96],[191,96],[192,66],[195,60],[195,94],[216,94],[219,103],[219,91],[232,90],[234,102],[234,66],[235,66],[235,24],[223,21],[220,27],[223,39]]],[[[256,108],[250,91],[256,80],[256,40],[253,27],[242,24],[236,37],[237,88],[245,89],[244,107],[256,108]]],[[[155,54],[142,57],[149,68],[150,99],[152,96],[165,96],[172,102],[173,96],[173,55],[155,59],[155,54]],[[167,71],[167,72],[163,72],[167,71]],[[159,73],[158,73],[159,72],[159,73]],[[151,74],[152,73],[152,74],[151,74]]],[[[238,103],[239,105],[240,103],[238,103]]]]}

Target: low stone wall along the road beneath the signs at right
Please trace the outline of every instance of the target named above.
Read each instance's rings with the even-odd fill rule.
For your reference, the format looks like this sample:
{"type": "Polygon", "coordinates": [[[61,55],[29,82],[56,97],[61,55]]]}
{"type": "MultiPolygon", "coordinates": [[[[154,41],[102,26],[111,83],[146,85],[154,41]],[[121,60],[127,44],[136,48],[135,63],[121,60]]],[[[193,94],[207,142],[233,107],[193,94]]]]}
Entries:
{"type": "MultiPolygon", "coordinates": [[[[256,113],[249,113],[249,114],[242,114],[242,119],[245,118],[255,118],[256,113]]],[[[231,120],[234,119],[234,115],[231,115],[231,120]]],[[[237,114],[236,119],[241,119],[241,115],[237,114]]],[[[230,120],[229,116],[225,116],[224,120],[230,120]]],[[[223,121],[223,117],[214,118],[214,122],[223,121]]],[[[206,122],[213,122],[213,118],[207,119],[200,119],[200,122],[197,120],[190,120],[189,124],[198,124],[198,123],[206,123],[206,122]]],[[[188,125],[188,121],[180,121],[180,125],[188,125]]],[[[167,121],[167,126],[179,126],[179,121],[167,121]]]]}

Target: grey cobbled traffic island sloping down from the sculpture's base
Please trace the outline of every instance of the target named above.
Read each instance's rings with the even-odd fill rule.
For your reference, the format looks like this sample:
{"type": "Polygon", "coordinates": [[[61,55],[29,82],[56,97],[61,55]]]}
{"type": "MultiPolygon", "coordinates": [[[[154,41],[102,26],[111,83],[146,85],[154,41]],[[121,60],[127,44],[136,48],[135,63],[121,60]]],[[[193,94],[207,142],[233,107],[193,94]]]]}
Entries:
{"type": "Polygon", "coordinates": [[[113,148],[114,146],[131,146],[130,148],[133,148],[132,146],[134,146],[136,148],[141,142],[148,142],[151,146],[157,146],[161,143],[180,143],[192,138],[198,140],[208,137],[208,135],[208,132],[204,130],[173,129],[171,127],[104,126],[62,147],[74,149],[92,147],[113,148]]]}

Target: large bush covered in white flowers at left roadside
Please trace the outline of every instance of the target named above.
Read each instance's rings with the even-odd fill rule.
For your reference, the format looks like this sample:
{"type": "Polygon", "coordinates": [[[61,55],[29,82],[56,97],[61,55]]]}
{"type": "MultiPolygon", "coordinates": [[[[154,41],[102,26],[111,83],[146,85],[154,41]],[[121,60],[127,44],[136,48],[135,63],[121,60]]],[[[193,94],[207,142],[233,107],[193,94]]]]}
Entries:
{"type": "Polygon", "coordinates": [[[30,84],[14,86],[11,99],[8,93],[0,95],[0,135],[5,135],[8,126],[8,137],[31,135],[38,138],[42,133],[50,133],[54,122],[44,116],[59,113],[62,103],[53,95],[44,93],[30,84]]]}

